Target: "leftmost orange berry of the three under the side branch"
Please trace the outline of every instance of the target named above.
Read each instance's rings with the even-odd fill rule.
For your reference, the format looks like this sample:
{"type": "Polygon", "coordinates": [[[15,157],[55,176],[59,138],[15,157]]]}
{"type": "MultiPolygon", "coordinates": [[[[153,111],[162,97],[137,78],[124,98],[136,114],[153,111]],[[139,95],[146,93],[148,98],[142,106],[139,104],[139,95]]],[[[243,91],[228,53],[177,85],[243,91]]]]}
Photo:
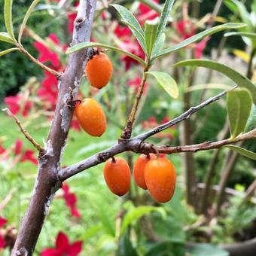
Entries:
{"type": "Polygon", "coordinates": [[[121,197],[130,189],[131,172],[126,160],[115,157],[105,163],[104,178],[108,188],[112,193],[121,197]]]}

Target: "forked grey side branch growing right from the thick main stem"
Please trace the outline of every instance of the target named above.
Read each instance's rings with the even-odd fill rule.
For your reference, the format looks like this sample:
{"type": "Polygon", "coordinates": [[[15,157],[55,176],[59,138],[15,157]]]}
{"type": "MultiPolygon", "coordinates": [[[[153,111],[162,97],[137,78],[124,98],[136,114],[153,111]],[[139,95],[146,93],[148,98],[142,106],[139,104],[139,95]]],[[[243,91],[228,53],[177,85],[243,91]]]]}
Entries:
{"type": "MultiPolygon", "coordinates": [[[[96,166],[99,163],[103,163],[106,160],[108,160],[108,158],[110,157],[114,157],[116,154],[120,154],[123,153],[125,151],[133,151],[136,153],[155,153],[155,149],[154,149],[154,145],[151,145],[147,142],[144,142],[145,139],[148,139],[151,136],[154,136],[157,133],[160,133],[163,130],[168,129],[170,126],[174,126],[177,123],[180,123],[182,120],[186,120],[187,118],[189,118],[192,114],[196,113],[197,111],[199,111],[200,109],[206,107],[206,105],[211,104],[212,102],[217,101],[218,99],[221,98],[221,96],[224,96],[227,92],[224,91],[222,93],[219,93],[217,96],[214,96],[210,99],[207,99],[205,102],[200,103],[199,105],[192,107],[190,109],[188,109],[187,111],[185,111],[183,114],[181,114],[180,116],[176,117],[173,120],[170,120],[167,123],[164,123],[163,125],[157,126],[156,128],[154,128],[153,130],[150,130],[147,133],[143,133],[142,135],[136,136],[133,139],[119,139],[118,142],[116,144],[114,144],[111,148],[106,149],[105,151],[101,151],[98,154],[94,154],[91,157],[88,157],[85,160],[82,160],[81,162],[75,163],[72,166],[68,166],[66,168],[63,168],[59,171],[59,180],[60,181],[65,181],[67,178],[72,177],[73,175],[84,171],[85,169],[89,169],[90,167],[96,166]]],[[[242,137],[237,137],[239,139],[251,139],[251,133],[249,133],[249,135],[247,133],[245,133],[244,135],[242,135],[242,137]],[[246,135],[245,135],[246,134],[246,135]]],[[[236,139],[237,139],[236,138],[236,139]]],[[[232,142],[229,140],[228,142],[226,141],[225,143],[230,144],[233,142],[237,142],[236,140],[233,140],[232,142]]],[[[195,150],[197,149],[197,151],[201,151],[201,150],[206,150],[206,149],[212,149],[212,143],[214,142],[204,142],[203,145],[201,144],[199,148],[193,148],[194,147],[198,147],[198,145],[190,145],[190,146],[184,146],[184,147],[166,147],[168,148],[169,151],[172,151],[171,153],[180,153],[180,152],[185,152],[185,150],[189,150],[191,151],[192,149],[195,150]],[[188,148],[186,148],[188,147],[188,148]],[[192,149],[191,149],[192,147],[192,149]],[[206,149],[204,149],[206,148],[206,149]]],[[[215,147],[221,147],[221,143],[220,144],[213,144],[215,147]]],[[[227,144],[223,144],[223,145],[227,145],[227,144]]],[[[161,148],[162,150],[166,151],[166,149],[161,148]]],[[[158,150],[158,148],[157,148],[158,150]]],[[[160,151],[161,153],[161,151],[160,151]]]]}

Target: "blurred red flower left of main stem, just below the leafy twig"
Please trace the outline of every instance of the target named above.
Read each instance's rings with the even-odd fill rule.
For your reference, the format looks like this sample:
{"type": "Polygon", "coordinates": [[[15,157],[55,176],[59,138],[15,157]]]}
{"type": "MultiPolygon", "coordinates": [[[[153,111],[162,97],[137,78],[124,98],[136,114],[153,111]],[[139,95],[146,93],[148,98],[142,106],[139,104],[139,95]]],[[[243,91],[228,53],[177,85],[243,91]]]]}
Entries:
{"type": "Polygon", "coordinates": [[[46,108],[54,109],[58,98],[58,82],[56,77],[49,72],[44,72],[44,75],[44,80],[38,89],[38,96],[49,103],[46,108]]]}

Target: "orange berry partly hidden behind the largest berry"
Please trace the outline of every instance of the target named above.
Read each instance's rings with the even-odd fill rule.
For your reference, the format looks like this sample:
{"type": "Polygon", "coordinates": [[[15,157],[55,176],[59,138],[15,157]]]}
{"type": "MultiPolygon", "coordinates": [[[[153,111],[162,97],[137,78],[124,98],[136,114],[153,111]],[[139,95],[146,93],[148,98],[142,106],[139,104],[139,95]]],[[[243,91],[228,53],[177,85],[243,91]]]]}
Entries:
{"type": "Polygon", "coordinates": [[[149,154],[149,158],[147,157],[147,155],[141,154],[134,163],[133,178],[136,181],[136,184],[145,190],[148,189],[145,182],[145,166],[150,160],[156,158],[157,156],[155,154],[149,154]]]}

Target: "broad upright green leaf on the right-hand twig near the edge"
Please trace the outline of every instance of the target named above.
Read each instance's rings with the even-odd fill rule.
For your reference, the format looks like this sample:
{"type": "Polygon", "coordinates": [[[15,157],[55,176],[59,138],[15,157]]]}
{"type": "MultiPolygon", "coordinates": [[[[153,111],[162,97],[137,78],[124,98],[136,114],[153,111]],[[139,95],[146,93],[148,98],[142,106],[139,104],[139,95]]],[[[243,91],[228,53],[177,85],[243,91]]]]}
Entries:
{"type": "Polygon", "coordinates": [[[227,93],[227,114],[231,138],[234,139],[244,132],[251,105],[251,93],[247,89],[231,90],[227,93]]]}

